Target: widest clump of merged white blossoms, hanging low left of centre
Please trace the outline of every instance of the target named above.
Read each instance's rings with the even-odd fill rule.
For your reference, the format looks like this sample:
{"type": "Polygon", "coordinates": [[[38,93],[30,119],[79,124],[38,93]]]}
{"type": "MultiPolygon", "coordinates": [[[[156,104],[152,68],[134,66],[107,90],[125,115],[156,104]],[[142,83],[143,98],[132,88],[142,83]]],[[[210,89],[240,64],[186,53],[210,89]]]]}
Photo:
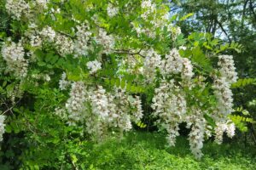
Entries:
{"type": "Polygon", "coordinates": [[[84,122],[86,132],[95,139],[108,133],[108,128],[118,128],[122,134],[131,130],[131,121],[138,122],[143,117],[141,100],[125,94],[125,90],[115,88],[113,94],[107,93],[102,86],[84,91],[82,82],[73,82],[70,99],[67,100],[69,118],[84,122]]]}

